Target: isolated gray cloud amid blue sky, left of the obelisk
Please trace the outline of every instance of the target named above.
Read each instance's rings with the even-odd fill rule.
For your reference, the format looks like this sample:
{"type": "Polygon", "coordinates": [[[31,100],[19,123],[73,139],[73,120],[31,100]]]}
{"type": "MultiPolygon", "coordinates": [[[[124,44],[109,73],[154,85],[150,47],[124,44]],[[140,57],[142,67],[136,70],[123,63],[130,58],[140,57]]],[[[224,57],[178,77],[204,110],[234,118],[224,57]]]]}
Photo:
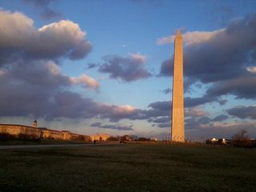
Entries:
{"type": "Polygon", "coordinates": [[[129,54],[126,57],[108,55],[103,60],[104,63],[98,70],[123,82],[133,82],[152,75],[145,68],[146,56],[142,54],[129,54]]]}

